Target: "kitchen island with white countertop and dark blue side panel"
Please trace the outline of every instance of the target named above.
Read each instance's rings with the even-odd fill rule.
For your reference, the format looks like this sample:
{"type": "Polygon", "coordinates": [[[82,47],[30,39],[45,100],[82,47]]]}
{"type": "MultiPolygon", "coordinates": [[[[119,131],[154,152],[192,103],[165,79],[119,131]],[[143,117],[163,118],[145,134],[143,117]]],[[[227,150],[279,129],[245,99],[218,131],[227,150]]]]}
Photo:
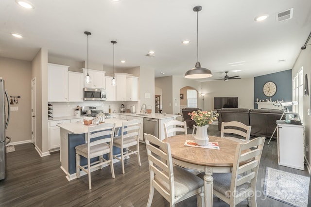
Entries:
{"type": "MultiPolygon", "coordinates": [[[[105,123],[115,123],[116,132],[122,127],[122,123],[126,120],[120,119],[106,119],[105,123]]],[[[75,158],[75,146],[86,143],[87,140],[87,130],[88,126],[83,125],[82,123],[65,123],[58,124],[60,127],[60,161],[61,169],[66,174],[68,180],[76,178],[76,158],[75,158]]],[[[120,132],[121,133],[121,130],[120,132]]],[[[120,154],[121,149],[118,147],[113,147],[113,154],[120,154]]],[[[107,156],[107,155],[106,155],[107,156]]],[[[98,158],[94,158],[98,159],[98,158]]],[[[92,159],[91,159],[92,160],[92,159]]],[[[114,160],[117,162],[118,160],[114,160]]],[[[87,163],[87,159],[81,157],[81,164],[84,165],[87,163]]],[[[99,168],[98,168],[99,169],[99,168]]],[[[96,169],[94,169],[96,170],[96,169]]],[[[82,171],[81,175],[85,175],[85,172],[82,171]]]]}

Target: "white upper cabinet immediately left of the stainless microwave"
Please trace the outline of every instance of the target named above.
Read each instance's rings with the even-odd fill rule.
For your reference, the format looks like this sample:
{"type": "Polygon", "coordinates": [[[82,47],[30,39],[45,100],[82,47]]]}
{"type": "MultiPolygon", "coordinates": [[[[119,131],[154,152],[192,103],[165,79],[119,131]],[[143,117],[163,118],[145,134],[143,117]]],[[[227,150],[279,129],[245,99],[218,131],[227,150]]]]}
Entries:
{"type": "Polygon", "coordinates": [[[83,101],[84,76],[83,73],[68,72],[69,101],[83,101]]]}

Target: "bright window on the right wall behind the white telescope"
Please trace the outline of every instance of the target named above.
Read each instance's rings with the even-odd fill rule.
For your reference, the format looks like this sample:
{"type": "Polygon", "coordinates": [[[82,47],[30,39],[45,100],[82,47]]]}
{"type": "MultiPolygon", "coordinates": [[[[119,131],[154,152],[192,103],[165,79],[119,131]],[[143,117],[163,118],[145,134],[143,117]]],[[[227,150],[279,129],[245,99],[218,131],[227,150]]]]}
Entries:
{"type": "Polygon", "coordinates": [[[293,79],[293,101],[298,101],[298,105],[293,106],[293,112],[298,113],[301,121],[303,121],[303,66],[293,79]]]}

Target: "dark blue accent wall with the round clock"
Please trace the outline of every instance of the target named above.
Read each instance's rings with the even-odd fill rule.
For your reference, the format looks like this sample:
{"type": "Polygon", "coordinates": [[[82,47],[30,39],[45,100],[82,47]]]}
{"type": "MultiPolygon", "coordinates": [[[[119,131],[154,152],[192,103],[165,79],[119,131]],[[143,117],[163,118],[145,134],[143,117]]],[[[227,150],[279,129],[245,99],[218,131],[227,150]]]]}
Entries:
{"type": "MultiPolygon", "coordinates": [[[[277,73],[254,77],[254,102],[256,99],[266,100],[270,97],[263,94],[263,85],[272,81],[276,84],[276,94],[271,96],[272,101],[284,100],[284,102],[292,101],[292,70],[285,70],[277,73]]],[[[254,103],[254,109],[258,109],[258,105],[254,103]]],[[[288,107],[292,111],[292,107],[288,107]]]]}

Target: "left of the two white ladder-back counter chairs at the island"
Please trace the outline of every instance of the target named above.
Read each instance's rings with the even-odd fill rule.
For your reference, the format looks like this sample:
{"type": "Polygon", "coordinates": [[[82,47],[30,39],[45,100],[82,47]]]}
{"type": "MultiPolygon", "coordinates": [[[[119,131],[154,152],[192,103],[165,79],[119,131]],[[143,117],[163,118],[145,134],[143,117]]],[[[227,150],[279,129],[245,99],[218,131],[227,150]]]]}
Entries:
{"type": "Polygon", "coordinates": [[[115,124],[100,124],[95,127],[88,127],[87,143],[80,144],[75,147],[76,151],[76,175],[80,178],[80,170],[88,175],[88,188],[92,189],[91,171],[94,168],[103,165],[110,165],[112,178],[115,178],[112,161],[112,143],[115,131],[115,124]],[[108,154],[108,159],[104,159],[103,155],[108,154]],[[87,165],[81,165],[81,156],[87,159],[87,165]],[[99,160],[91,162],[92,158],[98,157],[99,160]]]}

